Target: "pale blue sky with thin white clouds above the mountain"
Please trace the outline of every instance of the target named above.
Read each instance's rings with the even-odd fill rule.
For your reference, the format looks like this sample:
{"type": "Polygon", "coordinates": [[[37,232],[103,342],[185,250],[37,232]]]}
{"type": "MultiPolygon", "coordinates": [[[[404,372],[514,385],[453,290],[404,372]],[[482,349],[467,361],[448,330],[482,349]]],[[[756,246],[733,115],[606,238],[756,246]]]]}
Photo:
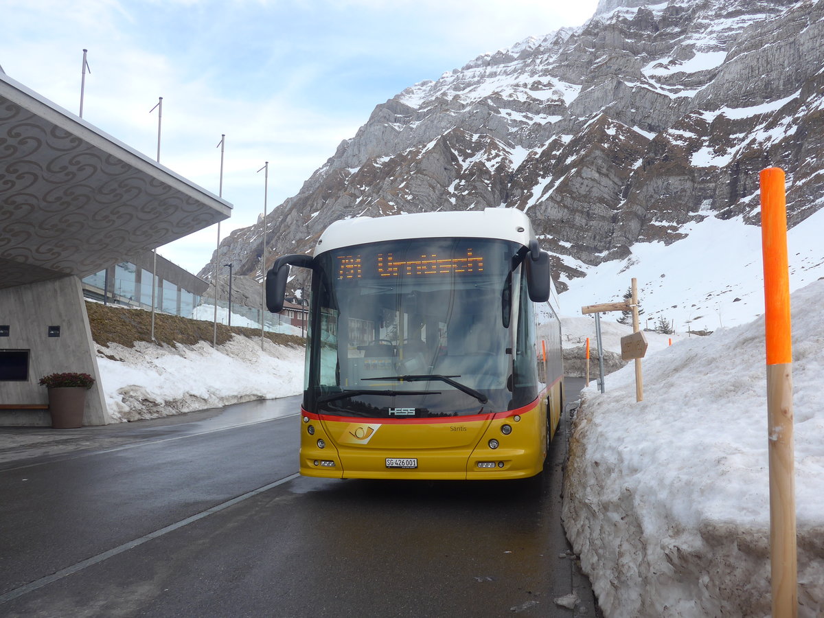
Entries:
{"type": "MultiPolygon", "coordinates": [[[[0,0],[0,67],[232,203],[221,237],[297,194],[375,105],[597,0],[0,0]],[[221,149],[225,154],[221,190],[221,149]],[[269,162],[268,179],[260,171],[269,162]]],[[[196,273],[213,226],[159,252],[196,273]]]]}

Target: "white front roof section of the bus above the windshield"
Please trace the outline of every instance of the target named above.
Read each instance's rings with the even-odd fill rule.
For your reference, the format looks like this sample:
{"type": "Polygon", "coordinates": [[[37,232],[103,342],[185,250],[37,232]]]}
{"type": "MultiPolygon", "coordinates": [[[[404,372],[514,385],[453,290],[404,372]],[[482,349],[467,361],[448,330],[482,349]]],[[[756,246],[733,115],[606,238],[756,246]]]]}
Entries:
{"type": "Polygon", "coordinates": [[[499,238],[529,246],[535,232],[527,215],[515,208],[356,217],[327,227],[317,241],[314,255],[399,238],[499,238]]]}

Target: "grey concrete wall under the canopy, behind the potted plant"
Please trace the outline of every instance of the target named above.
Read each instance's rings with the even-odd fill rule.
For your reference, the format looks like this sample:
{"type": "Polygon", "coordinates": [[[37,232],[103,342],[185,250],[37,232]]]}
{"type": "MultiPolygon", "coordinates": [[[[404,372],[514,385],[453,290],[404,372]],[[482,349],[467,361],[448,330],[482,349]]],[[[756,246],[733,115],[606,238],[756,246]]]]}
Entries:
{"type": "MultiPolygon", "coordinates": [[[[0,382],[0,404],[46,404],[48,391],[40,378],[48,373],[79,372],[95,378],[87,391],[84,425],[110,423],[101,388],[97,355],[89,329],[80,279],[69,276],[0,289],[0,325],[9,336],[0,337],[0,349],[29,349],[29,380],[0,382]],[[49,337],[49,326],[59,325],[60,336],[49,337]]],[[[47,411],[0,410],[2,425],[50,425],[47,411]]]]}

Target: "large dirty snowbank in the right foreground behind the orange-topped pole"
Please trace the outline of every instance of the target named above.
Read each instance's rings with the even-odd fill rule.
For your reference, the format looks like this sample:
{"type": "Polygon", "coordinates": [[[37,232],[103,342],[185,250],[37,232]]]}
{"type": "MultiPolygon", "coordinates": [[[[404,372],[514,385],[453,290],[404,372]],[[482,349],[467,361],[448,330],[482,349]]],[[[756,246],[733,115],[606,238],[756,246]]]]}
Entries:
{"type": "MultiPolygon", "coordinates": [[[[800,616],[824,615],[824,281],[793,294],[800,616]]],[[[583,391],[564,526],[606,616],[769,616],[764,321],[583,391]]]]}

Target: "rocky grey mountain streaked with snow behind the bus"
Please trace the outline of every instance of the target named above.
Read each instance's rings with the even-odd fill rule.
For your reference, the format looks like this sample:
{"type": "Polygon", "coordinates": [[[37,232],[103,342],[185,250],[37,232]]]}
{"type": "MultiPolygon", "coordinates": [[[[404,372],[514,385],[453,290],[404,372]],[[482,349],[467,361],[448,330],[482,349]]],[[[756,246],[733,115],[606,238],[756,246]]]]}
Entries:
{"type": "MultiPolygon", "coordinates": [[[[310,251],[339,218],[519,208],[555,256],[568,315],[637,277],[650,319],[749,321],[761,169],[787,172],[794,288],[824,275],[822,40],[817,0],[602,0],[583,26],[377,105],[269,214],[269,261],[310,251]],[[698,254],[711,269],[691,268],[698,254]]],[[[222,242],[236,274],[260,278],[262,226],[222,242]]]]}

